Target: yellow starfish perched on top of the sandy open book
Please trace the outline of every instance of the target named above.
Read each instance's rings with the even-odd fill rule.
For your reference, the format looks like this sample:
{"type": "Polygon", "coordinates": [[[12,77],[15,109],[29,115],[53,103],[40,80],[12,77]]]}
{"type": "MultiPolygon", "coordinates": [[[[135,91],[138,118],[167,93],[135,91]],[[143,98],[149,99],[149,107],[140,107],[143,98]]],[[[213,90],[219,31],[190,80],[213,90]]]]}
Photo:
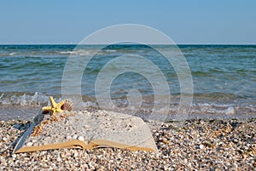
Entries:
{"type": "Polygon", "coordinates": [[[42,108],[43,113],[50,111],[51,115],[55,115],[56,112],[63,112],[64,110],[64,104],[66,103],[66,100],[61,100],[60,103],[56,103],[53,97],[49,97],[50,100],[50,106],[45,106],[42,108]]]}

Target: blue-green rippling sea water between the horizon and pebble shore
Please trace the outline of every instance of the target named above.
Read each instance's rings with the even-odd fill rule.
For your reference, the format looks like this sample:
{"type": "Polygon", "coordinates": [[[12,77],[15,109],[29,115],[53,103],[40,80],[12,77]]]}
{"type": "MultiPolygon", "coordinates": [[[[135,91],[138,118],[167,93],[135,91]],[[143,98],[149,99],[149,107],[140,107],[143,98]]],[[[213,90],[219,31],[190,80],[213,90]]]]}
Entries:
{"type": "MultiPolygon", "coordinates": [[[[119,56],[141,55],[160,68],[170,88],[170,114],[179,106],[180,84],[172,65],[145,45],[112,45],[98,50],[96,45],[74,49],[75,45],[0,45],[0,120],[32,118],[49,96],[61,100],[61,81],[69,56],[89,58],[81,77],[84,104],[78,109],[99,108],[96,101],[96,77],[102,68],[119,56]]],[[[154,46],[153,46],[154,47],[154,46]]],[[[170,46],[158,45],[163,51],[170,46]]],[[[196,117],[255,117],[256,116],[256,45],[178,45],[188,62],[193,78],[193,101],[189,116],[196,117]]],[[[83,67],[83,64],[76,64],[83,67]]],[[[137,115],[148,115],[154,107],[154,88],[143,74],[129,70],[125,62],[108,67],[113,72],[122,66],[127,72],[113,79],[110,96],[113,105],[124,108],[129,103],[130,90],[137,89],[142,104],[137,115]]],[[[149,66],[139,67],[150,73],[149,66]]],[[[74,68],[75,71],[75,68],[74,68]]],[[[165,94],[163,94],[165,95],[165,94]]]]}

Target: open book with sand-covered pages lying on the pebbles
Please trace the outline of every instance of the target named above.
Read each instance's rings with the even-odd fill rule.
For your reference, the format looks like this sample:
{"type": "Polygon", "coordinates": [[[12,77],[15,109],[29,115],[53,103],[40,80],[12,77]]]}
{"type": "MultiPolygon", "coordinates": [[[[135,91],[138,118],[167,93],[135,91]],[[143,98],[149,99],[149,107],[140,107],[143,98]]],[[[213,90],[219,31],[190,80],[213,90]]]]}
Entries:
{"type": "Polygon", "coordinates": [[[157,150],[148,125],[140,117],[113,111],[65,111],[35,117],[14,152],[98,147],[157,150]]]}

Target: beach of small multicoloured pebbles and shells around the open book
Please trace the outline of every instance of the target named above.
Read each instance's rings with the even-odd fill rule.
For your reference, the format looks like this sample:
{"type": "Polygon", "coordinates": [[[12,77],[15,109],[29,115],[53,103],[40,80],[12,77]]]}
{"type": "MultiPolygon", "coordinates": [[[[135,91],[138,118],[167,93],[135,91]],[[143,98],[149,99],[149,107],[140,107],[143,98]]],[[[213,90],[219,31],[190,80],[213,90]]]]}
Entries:
{"type": "Polygon", "coordinates": [[[13,154],[26,120],[0,121],[0,170],[255,170],[256,118],[148,121],[158,152],[116,148],[13,154]]]}

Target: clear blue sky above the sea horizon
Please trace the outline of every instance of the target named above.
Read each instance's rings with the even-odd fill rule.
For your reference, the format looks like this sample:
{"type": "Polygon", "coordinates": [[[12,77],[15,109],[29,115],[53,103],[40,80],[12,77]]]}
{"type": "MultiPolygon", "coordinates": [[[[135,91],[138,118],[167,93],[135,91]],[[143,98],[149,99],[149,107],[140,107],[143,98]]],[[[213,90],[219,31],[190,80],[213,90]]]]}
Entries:
{"type": "Polygon", "coordinates": [[[79,43],[106,26],[140,24],[176,43],[256,44],[255,0],[3,0],[0,43],[79,43]]]}

